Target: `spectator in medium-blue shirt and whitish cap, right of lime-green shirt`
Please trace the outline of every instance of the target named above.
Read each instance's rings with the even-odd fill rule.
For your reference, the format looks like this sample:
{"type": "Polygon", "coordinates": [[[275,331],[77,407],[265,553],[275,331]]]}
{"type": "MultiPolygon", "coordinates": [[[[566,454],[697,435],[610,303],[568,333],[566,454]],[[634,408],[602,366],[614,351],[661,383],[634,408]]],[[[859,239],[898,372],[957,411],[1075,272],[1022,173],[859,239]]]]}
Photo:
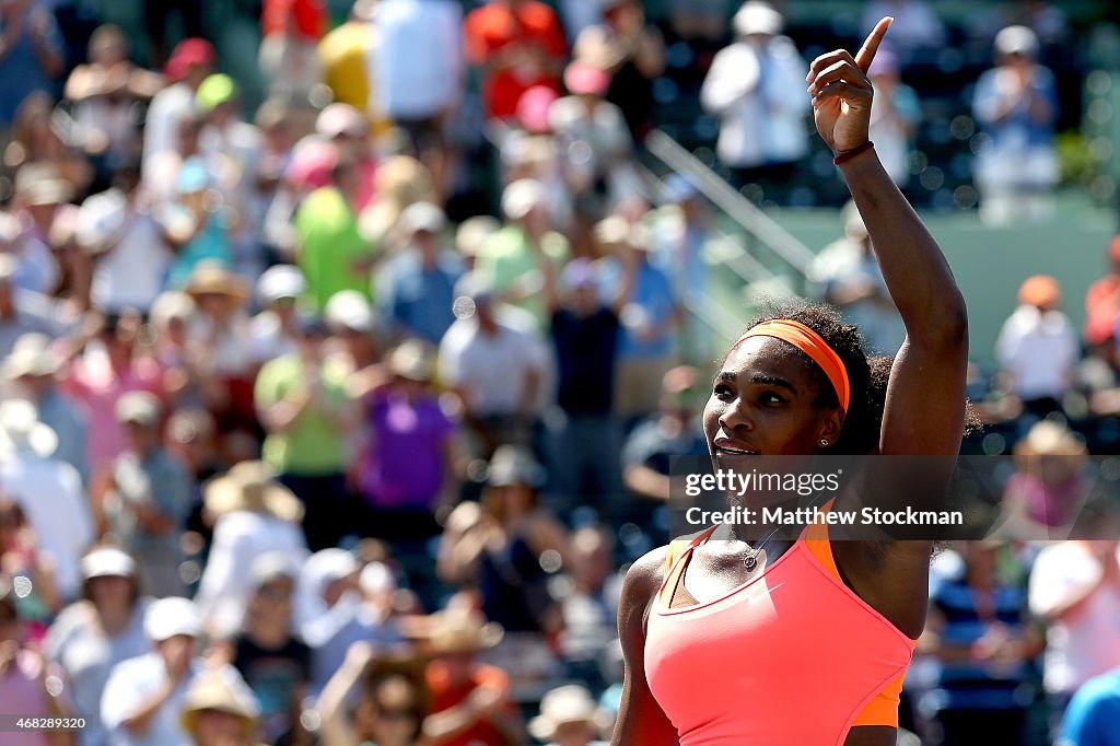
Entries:
{"type": "Polygon", "coordinates": [[[447,216],[436,205],[409,205],[398,225],[405,248],[380,272],[381,316],[394,336],[439,344],[455,321],[451,304],[463,261],[447,248],[447,216]]]}

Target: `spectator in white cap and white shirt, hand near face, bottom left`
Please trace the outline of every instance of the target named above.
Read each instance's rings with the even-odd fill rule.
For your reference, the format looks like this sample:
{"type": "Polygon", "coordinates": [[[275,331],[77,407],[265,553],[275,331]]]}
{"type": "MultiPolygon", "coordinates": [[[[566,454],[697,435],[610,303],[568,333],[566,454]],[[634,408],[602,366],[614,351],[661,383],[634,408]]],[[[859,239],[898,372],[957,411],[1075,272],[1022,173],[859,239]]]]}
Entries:
{"type": "Polygon", "coordinates": [[[156,650],[118,663],[101,696],[110,746],[171,746],[188,739],[180,714],[194,679],[205,670],[195,658],[202,617],[186,598],[161,598],[148,607],[144,634],[156,650]]]}

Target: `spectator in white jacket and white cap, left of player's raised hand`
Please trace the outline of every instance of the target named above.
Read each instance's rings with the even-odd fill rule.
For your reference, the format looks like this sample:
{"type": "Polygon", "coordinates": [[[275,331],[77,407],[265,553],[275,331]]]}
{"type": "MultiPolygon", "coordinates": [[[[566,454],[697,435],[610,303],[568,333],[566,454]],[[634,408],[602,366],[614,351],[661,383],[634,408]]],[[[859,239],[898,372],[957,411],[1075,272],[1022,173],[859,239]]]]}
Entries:
{"type": "Polygon", "coordinates": [[[765,194],[809,152],[809,64],[765,2],[745,3],[732,24],[736,40],[712,60],[700,103],[720,119],[716,152],[736,169],[737,186],[757,184],[765,194]]]}

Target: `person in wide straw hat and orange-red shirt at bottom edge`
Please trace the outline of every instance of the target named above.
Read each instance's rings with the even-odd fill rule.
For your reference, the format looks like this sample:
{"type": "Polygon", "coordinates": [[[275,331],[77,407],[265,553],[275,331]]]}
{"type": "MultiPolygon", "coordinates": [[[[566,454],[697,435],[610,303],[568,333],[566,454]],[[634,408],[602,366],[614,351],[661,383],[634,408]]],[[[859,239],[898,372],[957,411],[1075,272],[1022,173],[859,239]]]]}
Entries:
{"type": "Polygon", "coordinates": [[[526,743],[510,679],[502,669],[479,663],[475,654],[496,645],[501,625],[465,612],[430,617],[427,646],[432,655],[426,677],[431,710],[423,724],[431,746],[514,746],[526,743]]]}

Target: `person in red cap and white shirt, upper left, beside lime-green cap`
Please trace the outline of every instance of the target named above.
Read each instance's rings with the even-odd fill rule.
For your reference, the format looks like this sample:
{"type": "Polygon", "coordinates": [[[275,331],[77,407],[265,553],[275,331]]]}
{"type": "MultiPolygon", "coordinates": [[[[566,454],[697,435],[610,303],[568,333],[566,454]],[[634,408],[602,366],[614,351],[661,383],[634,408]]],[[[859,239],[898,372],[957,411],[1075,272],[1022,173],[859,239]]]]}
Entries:
{"type": "Polygon", "coordinates": [[[155,186],[166,178],[159,166],[179,152],[179,131],[194,115],[195,92],[214,67],[216,53],[209,41],[189,38],[179,43],[167,62],[168,86],[156,94],[148,108],[143,136],[143,181],[155,186]]]}

